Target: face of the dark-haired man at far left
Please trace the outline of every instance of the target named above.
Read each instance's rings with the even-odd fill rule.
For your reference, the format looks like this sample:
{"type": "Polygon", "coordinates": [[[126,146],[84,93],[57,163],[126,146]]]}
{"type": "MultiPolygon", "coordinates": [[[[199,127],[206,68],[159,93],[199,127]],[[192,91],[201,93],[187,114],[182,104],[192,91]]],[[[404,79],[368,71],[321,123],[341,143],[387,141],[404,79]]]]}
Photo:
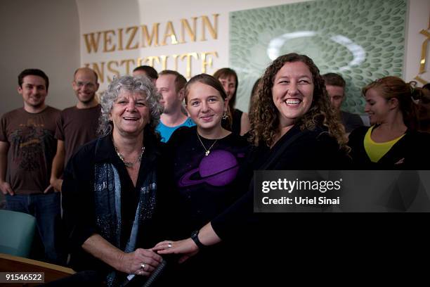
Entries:
{"type": "Polygon", "coordinates": [[[45,98],[48,94],[44,78],[36,75],[28,75],[22,79],[21,87],[18,87],[18,93],[22,95],[24,106],[32,109],[43,108],[45,98]]]}

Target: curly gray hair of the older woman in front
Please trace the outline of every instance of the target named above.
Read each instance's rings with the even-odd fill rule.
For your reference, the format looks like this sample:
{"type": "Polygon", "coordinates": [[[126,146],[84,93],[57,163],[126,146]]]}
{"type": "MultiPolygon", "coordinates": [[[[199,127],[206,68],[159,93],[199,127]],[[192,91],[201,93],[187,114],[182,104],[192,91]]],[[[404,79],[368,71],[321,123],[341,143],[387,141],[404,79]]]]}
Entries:
{"type": "Polygon", "coordinates": [[[150,79],[147,77],[131,76],[114,78],[113,82],[109,84],[107,90],[100,97],[101,115],[98,120],[98,134],[105,136],[112,132],[113,125],[112,121],[109,119],[110,111],[121,91],[137,92],[146,96],[145,101],[150,109],[150,122],[145,129],[148,129],[148,132],[157,136],[158,134],[155,132],[155,127],[157,127],[159,123],[159,115],[163,112],[162,105],[159,103],[161,96],[150,79]]]}

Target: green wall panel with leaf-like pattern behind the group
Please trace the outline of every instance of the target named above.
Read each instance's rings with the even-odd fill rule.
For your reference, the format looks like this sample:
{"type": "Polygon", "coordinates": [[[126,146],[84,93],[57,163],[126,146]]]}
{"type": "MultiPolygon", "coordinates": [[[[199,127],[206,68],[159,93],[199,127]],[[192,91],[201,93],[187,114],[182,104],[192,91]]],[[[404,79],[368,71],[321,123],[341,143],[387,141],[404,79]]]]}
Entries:
{"type": "Polygon", "coordinates": [[[311,57],[322,74],[341,74],[343,109],[363,114],[363,86],[402,77],[407,8],[407,0],[319,0],[230,13],[237,106],[247,109],[252,85],[272,60],[295,52],[311,57]]]}

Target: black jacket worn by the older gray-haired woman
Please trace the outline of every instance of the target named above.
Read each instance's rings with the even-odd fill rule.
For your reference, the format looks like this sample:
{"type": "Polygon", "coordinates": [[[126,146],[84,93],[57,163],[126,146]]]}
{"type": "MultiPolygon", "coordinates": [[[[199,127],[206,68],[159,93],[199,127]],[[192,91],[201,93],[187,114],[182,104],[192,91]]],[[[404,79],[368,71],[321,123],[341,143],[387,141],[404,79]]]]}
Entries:
{"type": "MultiPolygon", "coordinates": [[[[146,135],[145,135],[146,136],[146,135]]],[[[63,193],[63,217],[66,223],[67,237],[71,253],[70,264],[75,270],[96,270],[107,273],[112,270],[104,262],[96,259],[82,249],[82,243],[92,234],[102,234],[96,223],[96,164],[112,164],[118,171],[121,183],[121,203],[122,203],[122,229],[121,246],[130,236],[133,219],[138,204],[141,189],[145,188],[147,174],[155,172],[157,174],[155,184],[151,184],[151,191],[155,192],[155,212],[150,218],[145,218],[145,231],[142,236],[139,234],[136,248],[151,248],[155,243],[164,240],[166,227],[163,218],[165,210],[168,208],[168,201],[164,199],[169,188],[170,180],[164,178],[164,160],[162,160],[162,149],[164,145],[152,139],[149,135],[145,137],[145,153],[141,161],[141,168],[138,174],[136,187],[133,186],[124,163],[115,153],[111,136],[104,136],[100,139],[89,142],[82,146],[79,151],[67,163],[64,172],[62,187],[63,193]],[[161,203],[161,204],[160,204],[161,203]]],[[[108,186],[108,188],[111,188],[108,186]]],[[[148,191],[149,193],[149,191],[148,191]]]]}

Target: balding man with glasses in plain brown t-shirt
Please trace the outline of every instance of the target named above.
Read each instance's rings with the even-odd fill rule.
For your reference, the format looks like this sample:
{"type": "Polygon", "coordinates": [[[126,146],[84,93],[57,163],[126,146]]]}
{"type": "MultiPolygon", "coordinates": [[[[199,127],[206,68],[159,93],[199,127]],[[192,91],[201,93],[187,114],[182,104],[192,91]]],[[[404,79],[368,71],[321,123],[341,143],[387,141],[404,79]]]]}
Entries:
{"type": "Polygon", "coordinates": [[[63,170],[77,149],[96,139],[100,105],[96,99],[98,77],[90,68],[79,68],[74,72],[72,87],[78,102],[66,108],[57,121],[57,153],[52,163],[51,184],[61,191],[63,170]]]}

